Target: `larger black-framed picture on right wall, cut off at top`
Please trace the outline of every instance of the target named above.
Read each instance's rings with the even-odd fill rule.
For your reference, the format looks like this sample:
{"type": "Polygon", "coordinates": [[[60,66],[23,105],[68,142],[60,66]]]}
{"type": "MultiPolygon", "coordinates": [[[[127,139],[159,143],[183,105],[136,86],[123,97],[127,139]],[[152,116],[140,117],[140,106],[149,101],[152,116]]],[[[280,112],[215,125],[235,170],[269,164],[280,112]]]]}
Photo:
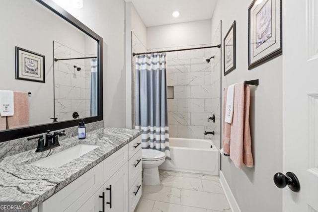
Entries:
{"type": "Polygon", "coordinates": [[[248,7],[248,70],[283,54],[282,0],[258,2],[248,7]]]}

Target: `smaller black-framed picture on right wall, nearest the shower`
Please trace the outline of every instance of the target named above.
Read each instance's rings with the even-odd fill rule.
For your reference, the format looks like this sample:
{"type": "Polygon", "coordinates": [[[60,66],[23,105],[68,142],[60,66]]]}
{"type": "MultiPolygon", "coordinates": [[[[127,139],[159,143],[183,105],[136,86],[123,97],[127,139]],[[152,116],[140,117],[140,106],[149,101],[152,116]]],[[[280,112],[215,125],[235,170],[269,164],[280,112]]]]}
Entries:
{"type": "Polygon", "coordinates": [[[224,37],[224,75],[236,69],[236,21],[224,37]]]}

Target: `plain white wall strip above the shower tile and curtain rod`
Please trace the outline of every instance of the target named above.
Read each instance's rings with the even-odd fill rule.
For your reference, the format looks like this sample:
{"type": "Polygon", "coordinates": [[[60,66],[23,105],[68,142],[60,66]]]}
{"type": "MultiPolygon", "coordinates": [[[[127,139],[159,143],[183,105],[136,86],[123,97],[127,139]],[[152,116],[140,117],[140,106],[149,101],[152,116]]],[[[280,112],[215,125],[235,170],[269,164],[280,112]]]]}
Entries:
{"type": "Polygon", "coordinates": [[[147,48],[159,49],[211,43],[211,20],[147,28],[147,48]]]}

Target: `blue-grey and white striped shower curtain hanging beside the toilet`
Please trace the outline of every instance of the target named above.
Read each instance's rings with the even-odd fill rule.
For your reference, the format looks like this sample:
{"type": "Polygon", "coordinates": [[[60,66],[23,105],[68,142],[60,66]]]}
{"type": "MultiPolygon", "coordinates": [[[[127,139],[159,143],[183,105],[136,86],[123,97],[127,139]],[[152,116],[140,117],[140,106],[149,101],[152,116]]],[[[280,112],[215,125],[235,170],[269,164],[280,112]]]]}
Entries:
{"type": "Polygon", "coordinates": [[[136,129],[142,133],[142,148],[165,153],[170,159],[166,98],[165,54],[136,56],[136,129]]]}

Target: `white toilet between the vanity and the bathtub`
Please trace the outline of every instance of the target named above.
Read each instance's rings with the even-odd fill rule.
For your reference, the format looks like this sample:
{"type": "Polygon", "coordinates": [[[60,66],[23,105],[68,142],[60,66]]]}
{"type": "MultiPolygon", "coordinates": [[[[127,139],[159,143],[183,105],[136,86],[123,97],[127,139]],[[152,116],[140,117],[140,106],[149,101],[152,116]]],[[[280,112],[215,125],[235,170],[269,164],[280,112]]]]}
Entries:
{"type": "Polygon", "coordinates": [[[164,160],[165,154],[163,152],[155,149],[142,149],[143,184],[154,186],[160,183],[158,166],[164,160]]]}

